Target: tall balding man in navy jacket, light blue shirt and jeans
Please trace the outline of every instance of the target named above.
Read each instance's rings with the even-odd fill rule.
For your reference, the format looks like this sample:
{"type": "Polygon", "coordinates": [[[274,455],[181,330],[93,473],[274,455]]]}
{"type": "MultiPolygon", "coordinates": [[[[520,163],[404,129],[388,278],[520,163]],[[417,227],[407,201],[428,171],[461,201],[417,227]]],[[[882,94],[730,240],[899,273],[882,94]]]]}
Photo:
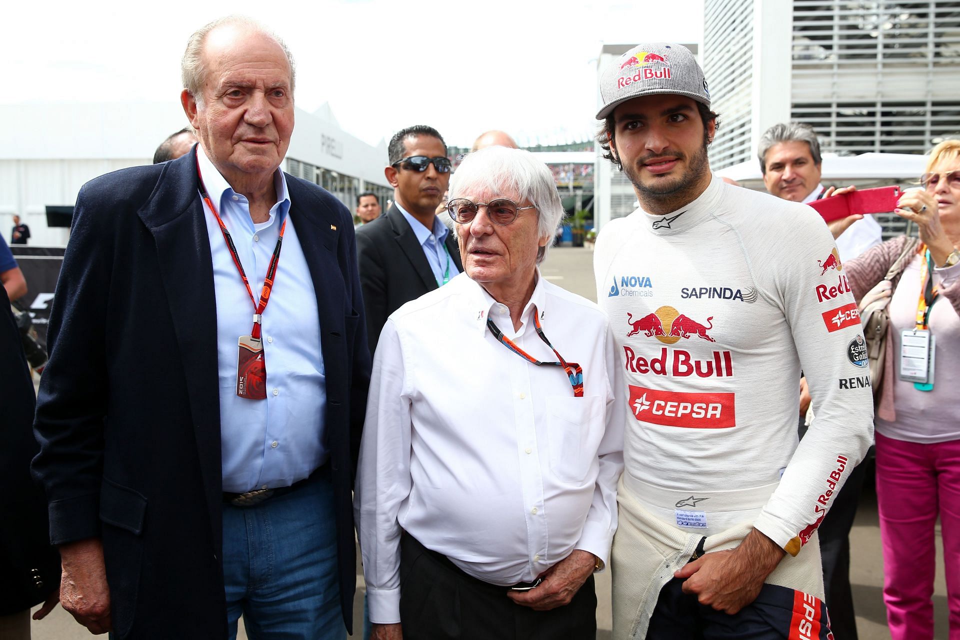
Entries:
{"type": "Polygon", "coordinates": [[[62,604],[119,639],[228,638],[241,612],[256,637],[344,638],[370,376],[351,217],[278,169],[294,78],[276,36],[211,23],[183,79],[199,146],[85,184],[60,272],[34,473],[62,604]],[[241,266],[273,283],[257,316],[241,266]]]}

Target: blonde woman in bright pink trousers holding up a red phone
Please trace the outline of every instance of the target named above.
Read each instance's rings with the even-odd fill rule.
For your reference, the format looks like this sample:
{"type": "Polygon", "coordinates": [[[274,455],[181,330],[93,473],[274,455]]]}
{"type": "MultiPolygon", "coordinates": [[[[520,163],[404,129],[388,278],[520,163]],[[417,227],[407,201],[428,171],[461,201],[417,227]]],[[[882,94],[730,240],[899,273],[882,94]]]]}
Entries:
{"type": "MultiPolygon", "coordinates": [[[[923,189],[900,197],[895,211],[920,229],[920,238],[893,238],[843,265],[853,296],[886,298],[889,305],[876,409],[876,498],[883,601],[893,640],[933,637],[938,517],[949,637],[960,637],[960,140],[933,148],[921,184],[923,189]],[[901,255],[906,268],[885,280],[901,255]],[[900,374],[904,336],[918,331],[935,341],[928,384],[900,374]]],[[[834,234],[842,230],[839,225],[834,234]]]]}

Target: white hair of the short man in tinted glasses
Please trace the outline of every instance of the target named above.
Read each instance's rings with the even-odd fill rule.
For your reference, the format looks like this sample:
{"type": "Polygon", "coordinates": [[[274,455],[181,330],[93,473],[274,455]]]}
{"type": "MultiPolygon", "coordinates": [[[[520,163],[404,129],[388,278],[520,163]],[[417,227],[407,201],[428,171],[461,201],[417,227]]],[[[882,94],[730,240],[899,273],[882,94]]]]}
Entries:
{"type": "MultiPolygon", "coordinates": [[[[447,198],[452,201],[477,191],[516,198],[517,202],[529,201],[537,207],[537,235],[549,238],[537,252],[540,264],[553,245],[557,226],[564,220],[564,204],[550,168],[528,151],[487,147],[464,157],[450,178],[447,198]]],[[[454,225],[458,234],[459,227],[454,225]]]]}

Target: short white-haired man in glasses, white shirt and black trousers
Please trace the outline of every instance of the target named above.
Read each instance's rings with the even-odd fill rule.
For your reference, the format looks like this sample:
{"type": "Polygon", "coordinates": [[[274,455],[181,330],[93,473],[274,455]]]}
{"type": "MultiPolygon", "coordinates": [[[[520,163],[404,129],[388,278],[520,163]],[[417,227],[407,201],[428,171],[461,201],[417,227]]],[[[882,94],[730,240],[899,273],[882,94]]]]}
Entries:
{"type": "Polygon", "coordinates": [[[546,165],[484,149],[449,197],[465,273],[397,310],[374,359],[354,502],[373,637],[592,640],[623,463],[606,321],[538,271],[564,216],[546,165]]]}

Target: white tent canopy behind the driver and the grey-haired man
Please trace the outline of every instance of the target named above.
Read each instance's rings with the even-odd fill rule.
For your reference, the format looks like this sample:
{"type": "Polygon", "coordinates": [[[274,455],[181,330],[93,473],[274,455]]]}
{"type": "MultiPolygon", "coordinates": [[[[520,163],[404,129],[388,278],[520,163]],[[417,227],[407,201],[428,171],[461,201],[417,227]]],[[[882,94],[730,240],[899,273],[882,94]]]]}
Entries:
{"type": "MultiPolygon", "coordinates": [[[[909,185],[924,173],[926,159],[926,155],[917,154],[825,154],[821,181],[837,186],[855,184],[860,188],[909,185]]],[[[716,175],[732,178],[750,189],[765,190],[756,159],[721,169],[716,175]]]]}

